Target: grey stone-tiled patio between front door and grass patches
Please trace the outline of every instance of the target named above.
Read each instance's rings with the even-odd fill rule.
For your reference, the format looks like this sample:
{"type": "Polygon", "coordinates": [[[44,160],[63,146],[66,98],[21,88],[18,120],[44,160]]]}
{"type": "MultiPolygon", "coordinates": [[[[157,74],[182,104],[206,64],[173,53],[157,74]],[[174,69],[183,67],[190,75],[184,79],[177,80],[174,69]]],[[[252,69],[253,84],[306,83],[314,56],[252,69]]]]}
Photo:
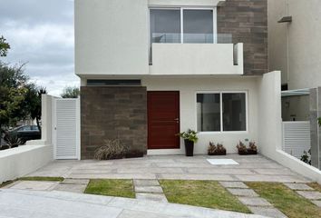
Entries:
{"type": "Polygon", "coordinates": [[[261,155],[223,157],[147,156],[112,161],[54,161],[30,176],[91,179],[181,179],[307,183],[310,180],[261,155]],[[238,165],[211,165],[207,159],[233,159],[238,165]]]}

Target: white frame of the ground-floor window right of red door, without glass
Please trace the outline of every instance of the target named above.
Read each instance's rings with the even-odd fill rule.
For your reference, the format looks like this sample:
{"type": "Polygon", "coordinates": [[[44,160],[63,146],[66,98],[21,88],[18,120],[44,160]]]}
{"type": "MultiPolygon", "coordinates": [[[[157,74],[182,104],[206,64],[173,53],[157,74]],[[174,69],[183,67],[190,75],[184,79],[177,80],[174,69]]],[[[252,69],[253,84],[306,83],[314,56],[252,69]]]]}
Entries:
{"type": "Polygon", "coordinates": [[[248,134],[248,91],[197,91],[195,93],[195,129],[198,134],[248,134]],[[220,131],[206,131],[202,132],[198,129],[198,94],[219,94],[219,107],[220,107],[220,131]],[[223,130],[223,94],[245,94],[245,115],[246,125],[245,131],[224,131],[223,130]]]}

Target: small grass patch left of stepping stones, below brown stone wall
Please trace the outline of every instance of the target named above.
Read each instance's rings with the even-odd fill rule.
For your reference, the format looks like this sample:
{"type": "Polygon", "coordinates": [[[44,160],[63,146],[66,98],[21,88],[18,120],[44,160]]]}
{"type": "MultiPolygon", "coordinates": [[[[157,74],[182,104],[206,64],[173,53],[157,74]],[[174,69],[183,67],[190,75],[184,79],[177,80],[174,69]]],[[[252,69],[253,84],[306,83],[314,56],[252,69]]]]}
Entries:
{"type": "Polygon", "coordinates": [[[132,180],[92,179],[84,193],[135,198],[132,180]]]}

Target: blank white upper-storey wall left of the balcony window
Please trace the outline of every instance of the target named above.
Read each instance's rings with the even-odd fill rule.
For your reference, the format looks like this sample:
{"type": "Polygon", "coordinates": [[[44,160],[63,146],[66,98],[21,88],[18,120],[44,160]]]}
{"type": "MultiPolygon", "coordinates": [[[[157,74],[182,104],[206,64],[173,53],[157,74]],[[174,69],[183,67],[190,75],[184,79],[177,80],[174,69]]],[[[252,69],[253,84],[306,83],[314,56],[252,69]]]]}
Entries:
{"type": "Polygon", "coordinates": [[[74,2],[76,74],[148,74],[147,0],[74,2]]]}

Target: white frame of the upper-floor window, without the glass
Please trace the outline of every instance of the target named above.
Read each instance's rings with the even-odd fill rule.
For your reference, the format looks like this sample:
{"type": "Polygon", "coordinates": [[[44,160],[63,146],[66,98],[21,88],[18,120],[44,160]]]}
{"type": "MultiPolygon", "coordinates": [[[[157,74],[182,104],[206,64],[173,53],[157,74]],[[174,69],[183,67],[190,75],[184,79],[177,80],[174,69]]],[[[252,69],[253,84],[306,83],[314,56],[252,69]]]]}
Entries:
{"type": "Polygon", "coordinates": [[[148,38],[151,46],[151,10],[180,10],[180,44],[184,44],[184,10],[213,10],[213,44],[218,43],[218,16],[217,7],[195,7],[195,6],[150,6],[148,9],[148,38]]]}

